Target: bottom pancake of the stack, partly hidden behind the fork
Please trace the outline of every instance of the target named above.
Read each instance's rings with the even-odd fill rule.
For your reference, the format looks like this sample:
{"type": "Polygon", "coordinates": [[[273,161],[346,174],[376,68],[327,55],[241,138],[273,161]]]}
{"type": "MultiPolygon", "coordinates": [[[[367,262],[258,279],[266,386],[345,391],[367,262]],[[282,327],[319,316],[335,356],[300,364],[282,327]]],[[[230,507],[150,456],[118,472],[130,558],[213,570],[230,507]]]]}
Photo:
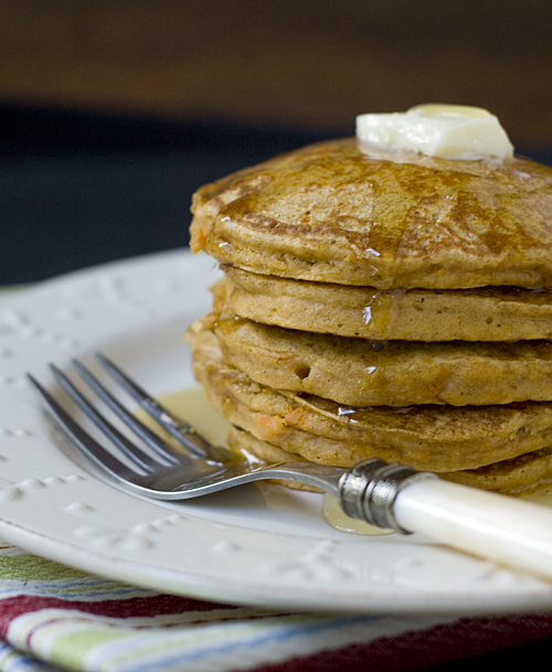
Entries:
{"type": "MultiPolygon", "coordinates": [[[[227,445],[232,450],[245,452],[265,463],[306,461],[300,456],[257,439],[253,434],[237,427],[231,428],[227,445]]],[[[524,494],[552,481],[552,448],[528,452],[479,469],[448,471],[439,473],[439,476],[445,480],[470,488],[480,488],[502,494],[524,494]]],[[[293,481],[285,481],[285,484],[291,488],[297,487],[293,481]]]]}

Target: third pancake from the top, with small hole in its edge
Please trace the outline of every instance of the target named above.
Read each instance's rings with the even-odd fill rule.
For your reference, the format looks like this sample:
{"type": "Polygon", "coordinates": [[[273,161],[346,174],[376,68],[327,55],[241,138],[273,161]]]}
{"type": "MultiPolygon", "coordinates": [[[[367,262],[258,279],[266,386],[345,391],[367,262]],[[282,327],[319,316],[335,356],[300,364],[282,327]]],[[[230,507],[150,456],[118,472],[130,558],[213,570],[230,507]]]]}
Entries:
{"type": "Polygon", "coordinates": [[[237,318],[219,284],[211,330],[224,363],[270,387],[352,406],[552,401],[552,343],[424,343],[309,333],[237,318]]]}

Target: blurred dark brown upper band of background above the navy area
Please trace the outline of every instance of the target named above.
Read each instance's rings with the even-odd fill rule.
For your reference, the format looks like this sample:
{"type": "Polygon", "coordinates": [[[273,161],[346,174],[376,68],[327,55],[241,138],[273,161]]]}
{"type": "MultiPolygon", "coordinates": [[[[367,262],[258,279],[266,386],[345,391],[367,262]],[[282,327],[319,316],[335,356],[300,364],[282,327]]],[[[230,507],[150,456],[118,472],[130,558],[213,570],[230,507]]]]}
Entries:
{"type": "Polygon", "coordinates": [[[552,146],[549,0],[0,0],[0,102],[352,131],[479,105],[552,146]]]}

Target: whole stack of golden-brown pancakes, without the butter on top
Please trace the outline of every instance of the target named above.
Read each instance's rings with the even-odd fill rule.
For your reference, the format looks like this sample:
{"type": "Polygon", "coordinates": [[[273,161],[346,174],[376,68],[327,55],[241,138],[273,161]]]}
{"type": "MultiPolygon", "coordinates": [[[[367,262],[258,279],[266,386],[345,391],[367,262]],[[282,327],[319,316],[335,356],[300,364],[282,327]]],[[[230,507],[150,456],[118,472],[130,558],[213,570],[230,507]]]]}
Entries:
{"type": "Polygon", "coordinates": [[[224,270],[189,330],[236,450],[552,479],[552,169],[314,145],[194,195],[224,270]]]}

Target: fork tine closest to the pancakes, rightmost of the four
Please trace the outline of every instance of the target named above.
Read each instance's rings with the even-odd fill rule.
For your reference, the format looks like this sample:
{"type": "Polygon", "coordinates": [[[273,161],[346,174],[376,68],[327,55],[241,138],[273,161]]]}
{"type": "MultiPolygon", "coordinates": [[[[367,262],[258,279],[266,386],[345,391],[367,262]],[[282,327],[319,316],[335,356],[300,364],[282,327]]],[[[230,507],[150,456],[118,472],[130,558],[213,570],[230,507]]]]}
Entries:
{"type": "Polygon", "coordinates": [[[96,358],[114,381],[116,381],[150,417],[177,439],[177,441],[198,457],[209,457],[213,447],[195,431],[195,428],[190,425],[190,423],[178,417],[166,406],[160,404],[104,354],[97,352],[96,358]]]}

